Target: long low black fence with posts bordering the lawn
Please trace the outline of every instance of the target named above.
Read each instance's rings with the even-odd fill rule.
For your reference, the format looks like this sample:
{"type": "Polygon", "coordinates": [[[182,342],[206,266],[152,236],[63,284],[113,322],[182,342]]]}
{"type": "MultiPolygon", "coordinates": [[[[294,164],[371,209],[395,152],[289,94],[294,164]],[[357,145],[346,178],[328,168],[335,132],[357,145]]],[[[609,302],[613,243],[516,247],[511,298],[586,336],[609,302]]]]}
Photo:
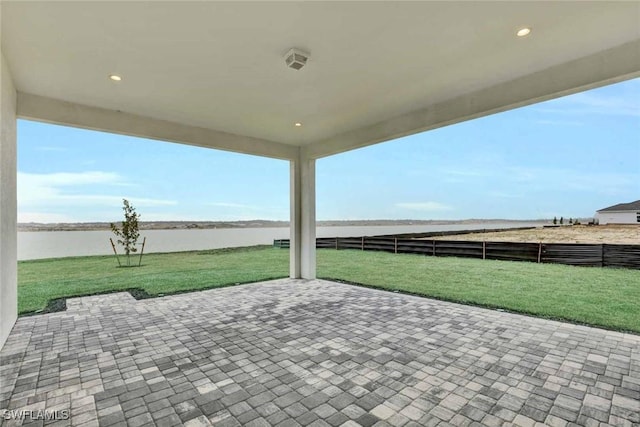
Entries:
{"type": "MultiPolygon", "coordinates": [[[[289,240],[274,240],[273,245],[288,248],[289,240]]],[[[477,242],[378,236],[318,238],[316,247],[640,269],[640,245],[477,242]]]]}

